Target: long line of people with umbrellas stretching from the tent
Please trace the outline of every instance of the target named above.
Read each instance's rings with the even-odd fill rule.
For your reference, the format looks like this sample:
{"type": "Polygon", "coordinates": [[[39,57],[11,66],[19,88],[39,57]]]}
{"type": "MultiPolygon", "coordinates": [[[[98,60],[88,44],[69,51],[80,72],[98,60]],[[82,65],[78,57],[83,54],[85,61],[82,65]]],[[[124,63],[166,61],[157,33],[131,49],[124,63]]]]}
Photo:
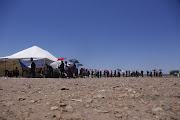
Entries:
{"type": "MultiPolygon", "coordinates": [[[[29,70],[29,74],[28,74],[28,78],[32,77],[35,78],[36,77],[36,64],[33,61],[33,59],[31,58],[31,65],[30,65],[30,70],[29,70]]],[[[43,68],[41,70],[41,74],[43,74],[46,78],[53,78],[53,77],[60,77],[60,78],[101,78],[101,77],[144,77],[144,71],[130,71],[130,70],[102,70],[102,69],[85,69],[85,68],[81,68],[78,70],[78,68],[76,67],[76,64],[68,64],[67,61],[65,61],[65,63],[63,61],[61,61],[61,64],[58,67],[58,72],[56,74],[56,76],[54,75],[54,69],[48,65],[45,64],[45,68],[43,68]]],[[[14,75],[16,77],[18,77],[19,75],[19,70],[16,67],[16,70],[14,70],[14,75]]],[[[163,73],[162,70],[160,71],[156,71],[153,70],[152,71],[147,71],[147,77],[162,77],[163,73]]]]}

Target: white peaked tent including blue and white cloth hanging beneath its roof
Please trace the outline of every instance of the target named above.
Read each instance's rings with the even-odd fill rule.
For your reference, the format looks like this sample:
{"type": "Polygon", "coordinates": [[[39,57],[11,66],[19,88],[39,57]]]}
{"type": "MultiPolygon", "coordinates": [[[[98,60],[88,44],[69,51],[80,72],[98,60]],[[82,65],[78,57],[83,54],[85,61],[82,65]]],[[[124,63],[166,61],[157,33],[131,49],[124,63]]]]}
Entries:
{"type": "Polygon", "coordinates": [[[56,57],[37,46],[27,48],[10,56],[1,57],[0,59],[18,59],[21,67],[30,67],[31,58],[34,59],[37,68],[43,68],[45,63],[50,64],[57,61],[56,57]]]}

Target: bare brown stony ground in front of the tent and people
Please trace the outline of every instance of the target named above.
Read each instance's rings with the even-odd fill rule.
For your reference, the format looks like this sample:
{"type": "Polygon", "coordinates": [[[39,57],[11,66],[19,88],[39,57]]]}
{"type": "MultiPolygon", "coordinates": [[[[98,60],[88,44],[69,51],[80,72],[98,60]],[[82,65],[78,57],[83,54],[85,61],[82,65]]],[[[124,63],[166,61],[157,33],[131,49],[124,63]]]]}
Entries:
{"type": "Polygon", "coordinates": [[[180,120],[180,78],[0,79],[0,120],[180,120]]]}

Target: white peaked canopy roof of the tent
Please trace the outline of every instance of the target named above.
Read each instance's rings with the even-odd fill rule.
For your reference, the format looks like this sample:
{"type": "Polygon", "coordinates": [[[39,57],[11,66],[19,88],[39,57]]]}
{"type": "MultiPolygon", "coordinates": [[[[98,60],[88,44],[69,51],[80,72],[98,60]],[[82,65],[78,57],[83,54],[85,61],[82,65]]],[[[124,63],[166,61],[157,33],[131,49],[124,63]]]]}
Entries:
{"type": "Polygon", "coordinates": [[[8,59],[48,59],[50,61],[57,61],[57,58],[54,57],[52,54],[50,54],[48,51],[41,49],[38,46],[33,46],[30,48],[27,48],[25,50],[22,50],[20,52],[17,52],[11,56],[1,57],[8,58],[8,59]]]}

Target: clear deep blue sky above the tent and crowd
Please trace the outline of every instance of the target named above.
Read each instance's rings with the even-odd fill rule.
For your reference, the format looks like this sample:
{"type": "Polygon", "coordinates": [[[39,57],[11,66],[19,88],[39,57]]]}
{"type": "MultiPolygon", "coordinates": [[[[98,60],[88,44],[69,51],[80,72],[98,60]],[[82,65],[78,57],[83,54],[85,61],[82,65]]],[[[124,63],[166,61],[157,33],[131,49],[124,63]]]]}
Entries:
{"type": "Polygon", "coordinates": [[[37,45],[86,68],[180,69],[180,0],[1,0],[0,56],[37,45]]]}

